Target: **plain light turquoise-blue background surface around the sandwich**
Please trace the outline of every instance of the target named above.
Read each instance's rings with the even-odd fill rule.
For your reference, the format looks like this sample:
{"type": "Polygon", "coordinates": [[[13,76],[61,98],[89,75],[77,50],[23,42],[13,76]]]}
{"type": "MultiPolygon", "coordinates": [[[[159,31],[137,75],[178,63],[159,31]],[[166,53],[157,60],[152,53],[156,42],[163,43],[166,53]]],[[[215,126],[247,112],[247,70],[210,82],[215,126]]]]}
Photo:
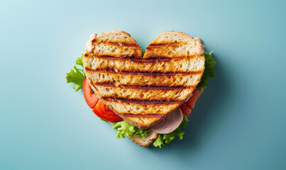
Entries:
{"type": "Polygon", "coordinates": [[[286,169],[285,1],[1,1],[0,169],[286,169]],[[202,38],[216,78],[185,139],[117,140],[65,74],[92,33],[202,38]]]}

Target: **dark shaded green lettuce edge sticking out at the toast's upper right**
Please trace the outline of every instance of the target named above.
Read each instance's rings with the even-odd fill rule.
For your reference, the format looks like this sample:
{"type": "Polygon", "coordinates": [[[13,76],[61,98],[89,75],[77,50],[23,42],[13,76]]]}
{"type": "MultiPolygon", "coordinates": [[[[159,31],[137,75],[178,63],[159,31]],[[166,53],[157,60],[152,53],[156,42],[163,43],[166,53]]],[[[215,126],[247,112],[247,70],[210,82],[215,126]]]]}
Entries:
{"type": "MultiPolygon", "coordinates": [[[[212,52],[212,51],[211,51],[212,52]]],[[[202,79],[197,85],[197,89],[202,90],[207,88],[207,81],[211,77],[216,77],[214,75],[214,64],[216,64],[216,61],[213,57],[211,57],[211,52],[204,52],[204,57],[206,59],[205,65],[204,65],[204,74],[202,74],[202,79]]]]}

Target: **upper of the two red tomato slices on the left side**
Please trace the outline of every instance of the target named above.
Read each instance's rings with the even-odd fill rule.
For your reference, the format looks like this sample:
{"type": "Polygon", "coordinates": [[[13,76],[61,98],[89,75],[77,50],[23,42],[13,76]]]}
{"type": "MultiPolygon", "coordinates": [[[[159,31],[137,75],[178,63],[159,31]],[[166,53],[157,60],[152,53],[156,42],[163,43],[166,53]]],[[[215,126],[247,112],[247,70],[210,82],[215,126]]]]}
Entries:
{"type": "Polygon", "coordinates": [[[87,77],[84,77],[82,91],[84,92],[84,99],[87,102],[87,105],[89,106],[89,108],[94,108],[94,106],[99,101],[99,98],[97,97],[97,94],[92,94],[92,88],[89,86],[87,77]]]}

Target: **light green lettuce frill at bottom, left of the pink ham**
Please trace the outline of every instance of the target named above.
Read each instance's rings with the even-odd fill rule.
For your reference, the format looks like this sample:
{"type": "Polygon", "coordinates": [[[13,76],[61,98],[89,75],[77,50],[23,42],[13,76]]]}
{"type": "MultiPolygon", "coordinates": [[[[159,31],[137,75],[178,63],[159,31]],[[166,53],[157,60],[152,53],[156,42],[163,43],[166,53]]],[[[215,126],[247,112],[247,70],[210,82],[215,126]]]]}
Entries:
{"type": "Polygon", "coordinates": [[[111,124],[114,129],[119,131],[116,135],[116,138],[125,138],[125,136],[129,137],[130,135],[145,137],[147,132],[146,130],[141,130],[136,126],[127,123],[125,120],[122,120],[120,122],[114,122],[111,124]]]}

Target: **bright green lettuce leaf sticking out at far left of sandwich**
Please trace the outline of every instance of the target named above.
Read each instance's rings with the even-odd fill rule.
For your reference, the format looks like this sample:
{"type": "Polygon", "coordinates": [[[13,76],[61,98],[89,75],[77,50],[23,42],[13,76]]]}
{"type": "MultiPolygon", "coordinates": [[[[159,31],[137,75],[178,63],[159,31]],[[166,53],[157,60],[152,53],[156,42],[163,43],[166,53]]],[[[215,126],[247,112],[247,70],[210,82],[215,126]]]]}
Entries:
{"type": "Polygon", "coordinates": [[[67,76],[65,77],[67,79],[67,84],[68,83],[74,83],[75,86],[73,86],[72,88],[75,89],[75,91],[78,91],[79,89],[82,89],[82,84],[84,82],[84,64],[83,64],[83,57],[84,55],[82,55],[82,57],[77,58],[77,61],[75,62],[75,64],[79,65],[82,67],[82,69],[78,69],[76,66],[73,67],[69,73],[67,73],[67,76]]]}

